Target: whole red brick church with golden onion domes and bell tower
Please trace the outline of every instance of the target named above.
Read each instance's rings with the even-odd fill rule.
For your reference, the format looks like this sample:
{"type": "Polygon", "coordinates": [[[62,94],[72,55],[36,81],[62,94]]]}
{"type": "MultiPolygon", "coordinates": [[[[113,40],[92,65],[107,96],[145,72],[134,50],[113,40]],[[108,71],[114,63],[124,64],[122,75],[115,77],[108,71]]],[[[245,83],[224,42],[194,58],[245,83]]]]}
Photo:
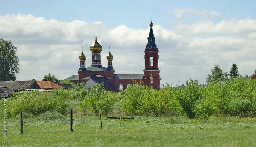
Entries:
{"type": "Polygon", "coordinates": [[[80,59],[80,67],[78,75],[72,75],[65,80],[72,80],[74,83],[84,82],[84,88],[93,83],[103,82],[104,88],[108,91],[120,91],[123,90],[132,83],[132,80],[140,82],[143,81],[146,86],[153,86],[155,89],[160,89],[160,70],[158,68],[158,48],[156,47],[155,37],[152,29],[153,23],[150,22],[150,32],[147,38],[147,46],[145,48],[145,69],[144,74],[115,74],[114,65],[112,60],[113,55],[110,53],[106,56],[108,59],[107,67],[103,67],[101,63],[101,51],[102,46],[97,41],[92,43],[90,50],[92,52],[91,66],[86,67],[86,56],[83,54],[83,50],[80,59]]]}

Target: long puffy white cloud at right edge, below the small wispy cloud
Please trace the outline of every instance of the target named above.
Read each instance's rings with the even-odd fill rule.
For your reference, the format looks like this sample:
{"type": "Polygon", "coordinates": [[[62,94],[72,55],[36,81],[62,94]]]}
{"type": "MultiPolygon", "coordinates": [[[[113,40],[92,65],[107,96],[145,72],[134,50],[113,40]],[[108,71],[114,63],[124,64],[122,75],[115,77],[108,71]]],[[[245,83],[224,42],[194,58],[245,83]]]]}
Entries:
{"type": "Polygon", "coordinates": [[[186,34],[243,34],[256,32],[256,20],[248,17],[244,20],[222,20],[217,24],[211,20],[201,20],[192,25],[179,24],[175,29],[186,34]]]}

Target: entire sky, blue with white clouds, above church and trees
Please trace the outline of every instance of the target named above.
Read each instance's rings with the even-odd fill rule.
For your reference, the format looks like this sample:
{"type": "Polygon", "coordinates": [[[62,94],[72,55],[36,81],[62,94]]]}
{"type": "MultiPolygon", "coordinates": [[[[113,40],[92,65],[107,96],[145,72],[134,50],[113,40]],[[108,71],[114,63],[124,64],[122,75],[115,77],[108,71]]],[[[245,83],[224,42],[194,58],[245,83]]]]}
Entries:
{"type": "Polygon", "coordinates": [[[65,79],[78,74],[81,48],[91,65],[90,46],[109,46],[115,74],[140,74],[152,17],[159,50],[161,84],[185,84],[218,64],[239,74],[256,70],[256,1],[4,1],[0,38],[17,46],[17,80],[41,80],[47,73],[65,79]]]}

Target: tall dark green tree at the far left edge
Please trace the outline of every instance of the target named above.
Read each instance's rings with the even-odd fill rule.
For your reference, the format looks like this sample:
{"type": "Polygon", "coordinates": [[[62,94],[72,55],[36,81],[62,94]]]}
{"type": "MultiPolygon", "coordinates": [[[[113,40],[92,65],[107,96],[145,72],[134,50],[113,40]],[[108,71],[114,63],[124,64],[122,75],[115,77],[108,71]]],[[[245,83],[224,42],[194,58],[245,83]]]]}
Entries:
{"type": "Polygon", "coordinates": [[[19,73],[17,47],[10,40],[0,39],[0,81],[16,81],[19,73]]]}

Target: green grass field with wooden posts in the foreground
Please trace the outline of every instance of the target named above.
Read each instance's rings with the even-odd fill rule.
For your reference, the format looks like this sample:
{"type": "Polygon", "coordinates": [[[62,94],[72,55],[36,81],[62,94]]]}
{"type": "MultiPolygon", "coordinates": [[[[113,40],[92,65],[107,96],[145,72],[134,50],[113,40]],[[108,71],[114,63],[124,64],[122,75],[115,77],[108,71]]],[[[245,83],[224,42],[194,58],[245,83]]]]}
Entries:
{"type": "Polygon", "coordinates": [[[73,132],[69,116],[24,116],[24,134],[19,117],[10,118],[8,142],[2,140],[1,146],[256,146],[255,118],[211,117],[201,123],[181,117],[109,120],[103,116],[101,131],[99,117],[74,112],[73,132]]]}

